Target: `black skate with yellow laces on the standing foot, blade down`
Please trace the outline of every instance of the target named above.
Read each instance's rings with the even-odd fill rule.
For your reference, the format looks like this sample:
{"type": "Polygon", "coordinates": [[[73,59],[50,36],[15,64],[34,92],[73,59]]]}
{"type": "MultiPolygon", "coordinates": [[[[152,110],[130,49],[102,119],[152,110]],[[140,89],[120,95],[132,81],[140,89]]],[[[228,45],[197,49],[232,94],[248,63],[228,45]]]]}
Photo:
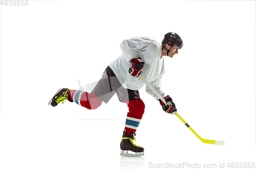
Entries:
{"type": "MultiPolygon", "coordinates": [[[[126,136],[125,130],[123,131],[123,138],[120,143],[121,153],[122,156],[143,156],[144,155],[144,148],[139,147],[138,145],[134,144],[134,138],[136,134],[131,132],[129,137],[126,136]],[[125,152],[124,152],[125,151],[125,152]],[[129,154],[128,151],[135,152],[135,154],[129,154]]],[[[136,141],[136,140],[135,140],[136,141]]]]}

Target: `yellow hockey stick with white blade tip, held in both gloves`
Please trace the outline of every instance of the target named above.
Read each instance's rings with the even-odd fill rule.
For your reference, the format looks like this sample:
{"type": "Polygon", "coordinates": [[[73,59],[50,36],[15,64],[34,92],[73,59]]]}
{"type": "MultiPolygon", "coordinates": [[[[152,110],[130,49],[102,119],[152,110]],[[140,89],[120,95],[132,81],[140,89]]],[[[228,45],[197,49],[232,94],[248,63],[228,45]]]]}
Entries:
{"type": "MultiPolygon", "coordinates": [[[[145,84],[148,84],[150,89],[158,96],[158,98],[167,106],[167,102],[162,98],[162,96],[154,89],[154,87],[151,86],[150,83],[148,83],[142,76],[139,76],[139,78],[141,78],[141,80],[144,81],[145,84]]],[[[225,142],[221,141],[221,140],[208,140],[208,139],[203,139],[202,137],[200,137],[186,122],[183,118],[181,118],[181,116],[176,112],[175,115],[177,117],[179,117],[179,119],[181,120],[181,122],[183,122],[188,129],[190,129],[191,132],[193,132],[203,143],[209,143],[209,144],[216,144],[216,145],[224,145],[225,142]]]]}

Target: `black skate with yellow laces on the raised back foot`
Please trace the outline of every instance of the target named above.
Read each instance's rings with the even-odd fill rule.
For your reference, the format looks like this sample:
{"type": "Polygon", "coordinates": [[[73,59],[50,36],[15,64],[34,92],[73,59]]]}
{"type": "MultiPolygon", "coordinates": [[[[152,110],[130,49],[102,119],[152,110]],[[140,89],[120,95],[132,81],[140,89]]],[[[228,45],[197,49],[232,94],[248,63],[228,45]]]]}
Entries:
{"type": "Polygon", "coordinates": [[[53,98],[51,99],[51,101],[49,102],[48,105],[51,106],[57,106],[60,102],[64,103],[67,99],[70,102],[73,102],[72,100],[69,99],[69,94],[68,92],[70,91],[70,89],[68,88],[60,88],[55,95],[53,96],[53,98]]]}

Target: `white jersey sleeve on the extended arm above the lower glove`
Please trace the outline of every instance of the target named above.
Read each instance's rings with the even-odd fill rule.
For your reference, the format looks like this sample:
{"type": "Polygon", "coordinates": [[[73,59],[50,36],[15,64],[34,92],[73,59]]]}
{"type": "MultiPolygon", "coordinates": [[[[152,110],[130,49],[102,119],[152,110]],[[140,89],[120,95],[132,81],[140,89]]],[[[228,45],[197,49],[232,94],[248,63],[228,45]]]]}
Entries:
{"type": "MultiPolygon", "coordinates": [[[[161,90],[162,77],[150,82],[151,86],[162,96],[166,96],[165,93],[161,90]]],[[[153,96],[157,101],[159,101],[158,96],[150,89],[149,85],[146,85],[146,92],[153,96]]]]}

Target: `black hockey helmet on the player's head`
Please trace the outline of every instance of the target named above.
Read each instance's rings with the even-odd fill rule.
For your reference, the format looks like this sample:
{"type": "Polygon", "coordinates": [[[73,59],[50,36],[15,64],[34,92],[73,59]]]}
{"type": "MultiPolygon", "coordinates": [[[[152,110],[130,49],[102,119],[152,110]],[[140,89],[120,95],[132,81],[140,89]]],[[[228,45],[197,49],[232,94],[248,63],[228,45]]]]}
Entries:
{"type": "MultiPolygon", "coordinates": [[[[177,46],[179,46],[179,48],[181,49],[182,46],[183,46],[183,42],[180,38],[180,36],[174,32],[170,32],[170,33],[167,33],[164,35],[164,39],[162,41],[162,44],[165,45],[165,44],[168,44],[170,45],[170,47],[172,48],[172,46],[174,46],[175,44],[177,46]]],[[[165,47],[164,47],[165,48],[165,47]]],[[[167,49],[166,49],[167,50],[167,49]]],[[[170,49],[169,49],[170,50],[170,49]]]]}

